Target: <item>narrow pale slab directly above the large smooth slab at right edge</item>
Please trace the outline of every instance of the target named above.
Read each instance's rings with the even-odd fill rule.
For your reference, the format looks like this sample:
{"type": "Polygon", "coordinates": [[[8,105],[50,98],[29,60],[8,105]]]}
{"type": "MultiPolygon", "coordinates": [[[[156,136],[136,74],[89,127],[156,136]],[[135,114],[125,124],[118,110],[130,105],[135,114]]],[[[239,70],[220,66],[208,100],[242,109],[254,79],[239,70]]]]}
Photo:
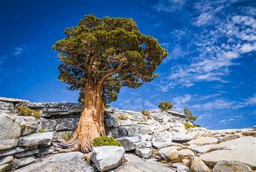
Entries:
{"type": "Polygon", "coordinates": [[[238,139],[234,139],[234,140],[219,143],[219,144],[215,145],[213,148],[214,149],[224,149],[224,148],[229,147],[229,146],[240,145],[240,144],[244,144],[244,143],[255,144],[256,143],[256,137],[253,137],[253,136],[240,137],[238,139]]]}

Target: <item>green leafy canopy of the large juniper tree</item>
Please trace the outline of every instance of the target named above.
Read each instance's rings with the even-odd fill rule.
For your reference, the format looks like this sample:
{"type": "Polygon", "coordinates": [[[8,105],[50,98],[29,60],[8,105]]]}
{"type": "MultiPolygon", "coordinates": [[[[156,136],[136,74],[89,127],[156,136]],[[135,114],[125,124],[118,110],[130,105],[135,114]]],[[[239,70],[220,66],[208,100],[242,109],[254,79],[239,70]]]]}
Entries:
{"type": "Polygon", "coordinates": [[[59,79],[83,95],[87,81],[103,85],[104,104],[117,99],[121,86],[137,88],[158,74],[167,56],[156,38],[143,35],[132,18],[85,15],[66,38],[53,45],[59,52],[59,79]]]}

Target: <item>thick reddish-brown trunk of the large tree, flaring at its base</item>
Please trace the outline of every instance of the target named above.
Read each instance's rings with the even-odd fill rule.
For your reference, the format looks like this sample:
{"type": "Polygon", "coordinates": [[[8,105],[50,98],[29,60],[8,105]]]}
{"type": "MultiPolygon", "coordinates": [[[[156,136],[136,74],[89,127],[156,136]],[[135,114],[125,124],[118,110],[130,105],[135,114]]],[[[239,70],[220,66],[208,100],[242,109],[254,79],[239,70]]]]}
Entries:
{"type": "Polygon", "coordinates": [[[88,81],[84,92],[83,112],[75,132],[66,143],[73,151],[89,153],[92,150],[93,139],[103,135],[105,127],[102,85],[88,81]]]}

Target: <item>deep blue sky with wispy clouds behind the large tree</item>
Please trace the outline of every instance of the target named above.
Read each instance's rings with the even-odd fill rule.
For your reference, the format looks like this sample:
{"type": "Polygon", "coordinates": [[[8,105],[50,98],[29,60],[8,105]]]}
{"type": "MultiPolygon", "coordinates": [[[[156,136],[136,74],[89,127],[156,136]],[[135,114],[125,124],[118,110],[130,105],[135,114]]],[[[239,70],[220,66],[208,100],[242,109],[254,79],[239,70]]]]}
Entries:
{"type": "Polygon", "coordinates": [[[203,127],[256,125],[256,1],[1,1],[0,96],[77,102],[57,80],[51,47],[91,13],[133,18],[170,52],[160,77],[123,87],[112,107],[140,111],[171,101],[203,127]]]}

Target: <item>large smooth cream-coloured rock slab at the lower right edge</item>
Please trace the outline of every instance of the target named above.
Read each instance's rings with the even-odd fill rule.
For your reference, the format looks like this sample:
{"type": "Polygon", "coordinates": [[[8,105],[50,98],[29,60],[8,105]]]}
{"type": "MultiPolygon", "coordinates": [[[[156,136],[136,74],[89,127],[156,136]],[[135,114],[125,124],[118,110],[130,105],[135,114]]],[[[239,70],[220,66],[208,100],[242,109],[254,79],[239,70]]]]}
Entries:
{"type": "Polygon", "coordinates": [[[209,166],[214,166],[218,161],[236,161],[256,170],[256,147],[241,147],[234,150],[215,150],[201,155],[200,158],[209,166]]]}

